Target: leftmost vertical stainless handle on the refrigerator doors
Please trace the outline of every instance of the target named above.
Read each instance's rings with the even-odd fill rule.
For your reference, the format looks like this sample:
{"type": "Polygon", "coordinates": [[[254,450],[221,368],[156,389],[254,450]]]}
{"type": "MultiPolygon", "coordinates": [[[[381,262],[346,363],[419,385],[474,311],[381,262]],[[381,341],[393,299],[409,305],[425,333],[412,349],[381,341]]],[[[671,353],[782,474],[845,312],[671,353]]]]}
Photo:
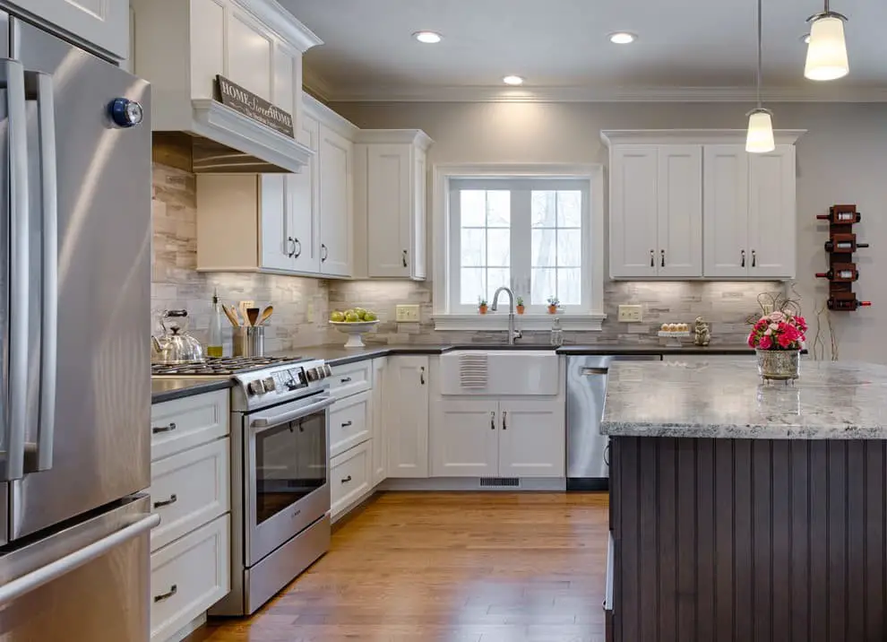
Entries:
{"type": "Polygon", "coordinates": [[[8,413],[4,435],[4,461],[0,479],[24,476],[26,399],[28,394],[28,131],[25,109],[24,67],[15,60],[0,60],[0,88],[6,90],[9,144],[9,371],[8,413]]]}

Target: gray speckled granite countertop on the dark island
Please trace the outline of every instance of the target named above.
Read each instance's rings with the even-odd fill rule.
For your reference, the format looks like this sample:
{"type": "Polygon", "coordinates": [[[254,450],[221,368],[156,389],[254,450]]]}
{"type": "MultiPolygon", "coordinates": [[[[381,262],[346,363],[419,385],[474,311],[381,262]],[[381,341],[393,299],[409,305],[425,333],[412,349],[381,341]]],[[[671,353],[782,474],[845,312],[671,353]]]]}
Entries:
{"type": "Polygon", "coordinates": [[[754,360],[616,362],[601,433],[621,437],[887,438],[887,366],[805,361],[794,386],[754,360]]]}

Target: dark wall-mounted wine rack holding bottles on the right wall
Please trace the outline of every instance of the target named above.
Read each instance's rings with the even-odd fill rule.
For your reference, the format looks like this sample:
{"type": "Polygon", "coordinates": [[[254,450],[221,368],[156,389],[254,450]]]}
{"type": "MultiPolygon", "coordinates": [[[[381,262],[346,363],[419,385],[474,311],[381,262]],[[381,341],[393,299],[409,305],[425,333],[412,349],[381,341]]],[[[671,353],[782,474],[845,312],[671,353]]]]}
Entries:
{"type": "Polygon", "coordinates": [[[859,279],[853,254],[857,249],[868,247],[868,243],[860,243],[853,232],[853,226],[862,220],[857,206],[831,205],[829,213],[818,214],[816,218],[829,221],[829,239],[825,241],[829,271],[816,273],[817,277],[829,280],[829,309],[852,312],[872,305],[871,301],[857,300],[853,292],[853,283],[859,279]]]}

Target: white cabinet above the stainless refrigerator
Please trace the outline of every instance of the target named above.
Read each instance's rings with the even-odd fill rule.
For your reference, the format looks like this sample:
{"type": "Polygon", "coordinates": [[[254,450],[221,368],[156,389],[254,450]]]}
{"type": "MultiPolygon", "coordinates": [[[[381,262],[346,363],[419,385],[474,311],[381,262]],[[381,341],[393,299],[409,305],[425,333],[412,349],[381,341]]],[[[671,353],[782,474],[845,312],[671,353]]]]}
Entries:
{"type": "Polygon", "coordinates": [[[9,4],[66,31],[108,58],[129,56],[128,0],[13,0],[9,4]]]}

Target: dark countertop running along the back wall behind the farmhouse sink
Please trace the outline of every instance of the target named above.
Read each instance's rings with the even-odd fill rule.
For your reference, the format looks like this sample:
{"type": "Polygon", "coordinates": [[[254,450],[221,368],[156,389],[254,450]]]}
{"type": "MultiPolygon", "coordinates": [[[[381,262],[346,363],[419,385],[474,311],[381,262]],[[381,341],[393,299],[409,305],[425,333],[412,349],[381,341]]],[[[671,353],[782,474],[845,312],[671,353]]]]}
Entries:
{"type": "Polygon", "coordinates": [[[323,359],[332,366],[341,366],[392,354],[443,354],[452,350],[555,350],[558,354],[710,354],[710,355],[752,355],[745,344],[723,344],[700,347],[685,345],[672,348],[660,345],[613,345],[592,343],[589,345],[562,345],[555,349],[547,343],[369,343],[363,348],[345,348],[341,343],[315,345],[308,348],[294,348],[288,351],[274,352],[271,356],[299,355],[306,359],[323,359]]]}

